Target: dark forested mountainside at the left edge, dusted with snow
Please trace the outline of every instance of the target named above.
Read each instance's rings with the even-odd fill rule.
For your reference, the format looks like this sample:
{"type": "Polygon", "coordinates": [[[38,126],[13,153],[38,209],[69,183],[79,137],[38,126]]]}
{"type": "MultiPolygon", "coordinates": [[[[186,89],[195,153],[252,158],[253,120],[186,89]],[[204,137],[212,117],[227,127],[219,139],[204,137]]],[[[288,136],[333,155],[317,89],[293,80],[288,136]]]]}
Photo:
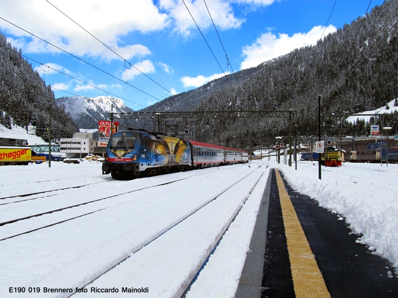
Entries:
{"type": "Polygon", "coordinates": [[[56,104],[51,86],[0,33],[0,124],[26,130],[32,125],[36,135],[48,141],[50,114],[54,139],[72,137],[78,130],[68,113],[56,104]]]}

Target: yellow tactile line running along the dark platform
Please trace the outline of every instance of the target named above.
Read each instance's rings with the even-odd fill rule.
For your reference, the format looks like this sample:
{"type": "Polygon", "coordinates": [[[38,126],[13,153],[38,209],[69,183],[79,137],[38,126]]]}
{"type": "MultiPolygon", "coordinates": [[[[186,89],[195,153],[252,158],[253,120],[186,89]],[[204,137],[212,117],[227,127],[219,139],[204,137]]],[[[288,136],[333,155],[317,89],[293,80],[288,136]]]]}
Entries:
{"type": "Polygon", "coordinates": [[[320,272],[314,255],[309,247],[295,208],[285,189],[281,174],[275,169],[277,176],[279,198],[281,201],[283,223],[285,225],[286,239],[290,265],[292,269],[293,284],[297,298],[330,298],[325,281],[320,272]]]}

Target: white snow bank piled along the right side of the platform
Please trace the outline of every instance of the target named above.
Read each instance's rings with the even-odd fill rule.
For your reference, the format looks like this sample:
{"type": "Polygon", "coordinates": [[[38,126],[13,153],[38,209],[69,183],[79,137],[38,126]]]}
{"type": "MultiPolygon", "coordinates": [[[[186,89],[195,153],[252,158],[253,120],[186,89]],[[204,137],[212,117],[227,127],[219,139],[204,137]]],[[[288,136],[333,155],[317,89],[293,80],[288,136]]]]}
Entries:
{"type": "Polygon", "coordinates": [[[322,180],[318,180],[317,163],[300,162],[297,171],[294,165],[272,165],[282,170],[295,190],[344,217],[354,232],[363,235],[358,244],[371,246],[373,254],[398,266],[398,164],[322,167],[322,180]]]}

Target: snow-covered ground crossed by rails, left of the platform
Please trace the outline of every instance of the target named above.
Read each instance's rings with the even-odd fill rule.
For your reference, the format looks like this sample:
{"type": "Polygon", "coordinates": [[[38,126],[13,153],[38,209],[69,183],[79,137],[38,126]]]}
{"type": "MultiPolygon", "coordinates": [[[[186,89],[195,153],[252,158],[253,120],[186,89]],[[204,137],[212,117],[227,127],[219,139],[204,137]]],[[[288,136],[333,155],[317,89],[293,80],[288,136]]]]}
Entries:
{"type": "MultiPolygon", "coordinates": [[[[224,297],[233,297],[269,172],[266,164],[131,181],[102,176],[95,162],[4,166],[0,193],[8,198],[0,200],[0,296],[15,295],[8,292],[14,286],[75,291],[97,278],[89,291],[92,286],[120,292],[149,287],[145,297],[178,296],[247,202],[221,239],[224,252],[211,256],[198,279],[208,284],[215,271],[230,272],[218,282],[230,288],[224,297]],[[225,251],[235,258],[233,270],[225,251]]],[[[195,286],[190,295],[195,296],[195,286]]]]}

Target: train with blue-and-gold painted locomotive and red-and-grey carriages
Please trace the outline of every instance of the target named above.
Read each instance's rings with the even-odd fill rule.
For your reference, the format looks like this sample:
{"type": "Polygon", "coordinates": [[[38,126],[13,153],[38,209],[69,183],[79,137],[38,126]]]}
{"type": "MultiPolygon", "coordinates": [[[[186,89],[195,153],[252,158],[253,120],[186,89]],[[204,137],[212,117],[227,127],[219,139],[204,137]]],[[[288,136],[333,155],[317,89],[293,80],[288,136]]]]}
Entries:
{"type": "Polygon", "coordinates": [[[118,131],[110,138],[102,174],[134,178],[243,162],[248,162],[244,150],[131,129],[118,131]]]}

